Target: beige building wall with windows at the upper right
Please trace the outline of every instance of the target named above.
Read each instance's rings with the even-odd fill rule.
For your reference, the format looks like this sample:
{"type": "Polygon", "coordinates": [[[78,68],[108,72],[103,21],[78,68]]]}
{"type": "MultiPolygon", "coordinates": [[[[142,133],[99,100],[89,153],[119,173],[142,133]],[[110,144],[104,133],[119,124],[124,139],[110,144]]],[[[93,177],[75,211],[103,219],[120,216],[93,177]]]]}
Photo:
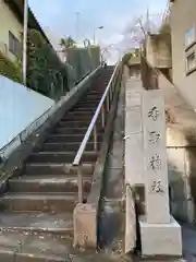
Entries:
{"type": "Polygon", "coordinates": [[[196,108],[196,0],[171,0],[173,82],[196,108]]]}

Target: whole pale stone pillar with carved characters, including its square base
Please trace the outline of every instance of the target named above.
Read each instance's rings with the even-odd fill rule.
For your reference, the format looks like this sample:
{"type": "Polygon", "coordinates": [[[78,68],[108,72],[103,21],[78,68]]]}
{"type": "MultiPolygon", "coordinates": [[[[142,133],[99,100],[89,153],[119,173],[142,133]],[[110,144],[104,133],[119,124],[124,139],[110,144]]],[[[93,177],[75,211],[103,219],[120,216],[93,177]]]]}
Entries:
{"type": "Polygon", "coordinates": [[[143,255],[182,255],[181,227],[170,216],[164,103],[161,91],[143,93],[146,215],[139,217],[143,255]]]}

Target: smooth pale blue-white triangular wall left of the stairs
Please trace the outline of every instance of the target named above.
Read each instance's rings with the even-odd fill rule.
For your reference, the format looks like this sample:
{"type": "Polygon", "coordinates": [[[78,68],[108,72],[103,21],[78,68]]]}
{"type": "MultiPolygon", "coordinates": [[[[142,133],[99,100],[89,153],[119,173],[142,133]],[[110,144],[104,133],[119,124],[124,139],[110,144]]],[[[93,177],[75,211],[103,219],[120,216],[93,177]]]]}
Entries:
{"type": "Polygon", "coordinates": [[[0,150],[54,102],[0,75],[0,150]]]}

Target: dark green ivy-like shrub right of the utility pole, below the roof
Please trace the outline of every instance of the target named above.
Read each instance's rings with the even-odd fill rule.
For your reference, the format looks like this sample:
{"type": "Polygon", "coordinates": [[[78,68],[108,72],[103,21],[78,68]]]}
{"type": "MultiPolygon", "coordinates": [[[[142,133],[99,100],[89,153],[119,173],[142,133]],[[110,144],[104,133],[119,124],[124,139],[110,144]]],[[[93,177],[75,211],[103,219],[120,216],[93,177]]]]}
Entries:
{"type": "Polygon", "coordinates": [[[69,91],[66,66],[35,29],[28,31],[27,85],[53,99],[69,91]]]}

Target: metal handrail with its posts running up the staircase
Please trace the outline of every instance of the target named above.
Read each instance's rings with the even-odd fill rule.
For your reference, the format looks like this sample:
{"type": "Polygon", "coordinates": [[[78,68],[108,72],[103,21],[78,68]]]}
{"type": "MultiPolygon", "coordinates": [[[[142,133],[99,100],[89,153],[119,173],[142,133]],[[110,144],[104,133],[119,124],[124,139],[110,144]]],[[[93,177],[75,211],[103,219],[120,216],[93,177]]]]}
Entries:
{"type": "Polygon", "coordinates": [[[119,75],[121,73],[121,62],[118,62],[115,66],[115,69],[112,73],[112,76],[107,85],[107,88],[99,102],[99,105],[96,109],[96,112],[89,123],[89,127],[86,131],[86,134],[81,143],[81,146],[76,153],[76,156],[73,162],[73,166],[76,168],[77,171],[77,184],[78,184],[78,202],[83,203],[83,174],[82,174],[82,157],[85,153],[85,148],[87,146],[87,143],[90,139],[90,135],[93,134],[93,143],[94,143],[94,151],[98,151],[98,132],[97,132],[97,120],[99,117],[101,118],[101,126],[102,128],[106,127],[106,119],[107,114],[110,112],[113,98],[115,96],[117,91],[117,83],[119,80],[119,75]]]}

